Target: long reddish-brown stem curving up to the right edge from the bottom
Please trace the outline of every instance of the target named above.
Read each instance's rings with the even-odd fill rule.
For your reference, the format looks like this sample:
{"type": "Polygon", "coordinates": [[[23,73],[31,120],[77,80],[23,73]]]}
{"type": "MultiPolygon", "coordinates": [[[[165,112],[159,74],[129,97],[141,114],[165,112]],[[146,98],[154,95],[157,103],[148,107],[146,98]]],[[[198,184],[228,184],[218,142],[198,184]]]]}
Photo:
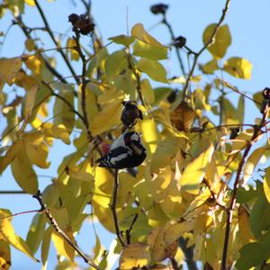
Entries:
{"type": "Polygon", "coordinates": [[[228,255],[228,248],[229,248],[229,232],[230,232],[230,224],[232,221],[232,214],[235,209],[236,201],[237,201],[237,193],[238,193],[238,186],[242,180],[243,170],[246,163],[246,158],[249,154],[249,151],[252,145],[256,142],[257,137],[260,135],[261,128],[266,125],[266,114],[268,111],[268,106],[264,108],[263,117],[259,125],[254,126],[253,136],[250,141],[247,142],[247,148],[243,153],[243,157],[241,158],[238,164],[238,171],[235,178],[235,182],[233,185],[233,190],[231,194],[231,199],[229,203],[229,208],[227,211],[227,220],[226,220],[226,229],[225,229],[225,238],[224,238],[224,245],[223,245],[223,252],[222,252],[222,261],[221,261],[221,270],[226,270],[227,265],[227,255],[228,255]]]}

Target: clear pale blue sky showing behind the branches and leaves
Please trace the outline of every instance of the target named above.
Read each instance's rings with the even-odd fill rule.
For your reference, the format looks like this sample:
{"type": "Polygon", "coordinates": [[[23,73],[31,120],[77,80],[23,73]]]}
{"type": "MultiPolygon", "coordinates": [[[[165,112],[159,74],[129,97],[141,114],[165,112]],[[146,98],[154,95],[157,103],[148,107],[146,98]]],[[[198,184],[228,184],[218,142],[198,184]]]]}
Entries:
{"type": "MultiPolygon", "coordinates": [[[[79,1],[73,1],[78,3],[79,1]]],[[[130,28],[135,23],[143,23],[146,29],[150,29],[161,18],[160,16],[149,13],[149,6],[157,4],[156,1],[144,0],[93,0],[93,14],[97,23],[98,29],[102,33],[103,42],[107,43],[108,38],[125,34],[127,31],[127,11],[130,28]]],[[[169,4],[167,12],[167,20],[172,24],[175,35],[183,35],[187,39],[187,45],[193,50],[202,48],[202,31],[210,23],[218,22],[221,10],[225,1],[216,0],[171,0],[164,1],[169,4]]],[[[67,16],[71,13],[81,14],[83,12],[82,6],[77,4],[74,6],[70,0],[58,0],[55,3],[48,3],[45,0],[40,0],[45,14],[49,18],[49,23],[54,31],[65,32],[70,28],[67,23],[67,16]]],[[[231,84],[237,85],[239,89],[247,94],[252,94],[269,85],[269,71],[270,71],[270,23],[269,23],[269,0],[247,1],[237,0],[231,1],[229,7],[229,14],[226,17],[225,23],[229,24],[229,29],[232,37],[232,44],[228,49],[225,58],[229,57],[244,57],[253,64],[252,78],[250,80],[234,79],[231,76],[225,76],[231,84]]],[[[40,16],[36,9],[26,8],[25,22],[31,26],[42,26],[40,16]]],[[[5,31],[10,23],[11,16],[7,14],[4,19],[0,21],[0,30],[5,31]]],[[[150,31],[150,33],[167,44],[170,40],[165,26],[158,25],[150,31]]],[[[70,36],[71,33],[69,32],[70,36]]],[[[22,32],[14,27],[8,34],[4,47],[1,51],[0,57],[15,57],[23,53],[22,32]]],[[[45,43],[44,48],[54,48],[48,39],[48,36],[43,34],[42,41],[45,43]]],[[[90,41],[89,41],[90,43],[90,41]]],[[[85,42],[87,44],[87,41],[85,42]]],[[[113,50],[116,47],[110,47],[113,50]]],[[[118,48],[119,49],[119,48],[118,48]]],[[[199,62],[205,63],[211,59],[210,53],[205,51],[202,54],[199,62]]],[[[64,67],[61,60],[58,64],[62,74],[69,75],[67,68],[64,67]]],[[[175,58],[167,60],[165,67],[169,70],[171,76],[179,75],[178,63],[175,58]]],[[[237,94],[231,94],[232,100],[237,94]]],[[[255,116],[258,116],[257,109],[252,103],[247,101],[248,110],[246,114],[246,121],[252,122],[255,116]]],[[[0,121],[0,130],[4,129],[4,121],[0,121]]],[[[63,146],[60,143],[56,144],[56,148],[61,149],[62,155],[70,152],[70,148],[63,146]]],[[[51,154],[51,160],[54,160],[56,152],[51,154]]],[[[58,160],[60,162],[61,160],[58,160]]],[[[56,168],[58,164],[51,166],[47,175],[56,175],[56,168]]],[[[40,178],[40,185],[46,186],[49,184],[48,178],[40,178]]],[[[19,187],[14,183],[13,176],[10,170],[7,170],[1,176],[1,190],[19,190],[19,187]]],[[[39,205],[30,195],[1,195],[0,207],[9,208],[13,212],[26,211],[38,209],[39,205]]],[[[15,231],[25,238],[27,230],[31,222],[32,214],[21,215],[14,217],[15,231]]],[[[85,222],[84,229],[81,230],[77,238],[77,242],[85,252],[89,252],[94,247],[94,235],[91,229],[90,222],[85,222]]],[[[103,242],[106,247],[110,243],[112,237],[105,232],[104,229],[98,227],[100,234],[103,236],[103,242]]],[[[51,245],[53,250],[53,245],[51,245]]],[[[39,253],[37,257],[40,257],[39,253]]],[[[12,269],[40,269],[39,264],[33,263],[30,259],[19,252],[13,253],[12,269]],[[23,263],[23,266],[22,266],[23,263]],[[23,267],[23,268],[22,268],[23,267]]],[[[55,252],[49,257],[49,267],[52,269],[56,264],[55,252]]]]}

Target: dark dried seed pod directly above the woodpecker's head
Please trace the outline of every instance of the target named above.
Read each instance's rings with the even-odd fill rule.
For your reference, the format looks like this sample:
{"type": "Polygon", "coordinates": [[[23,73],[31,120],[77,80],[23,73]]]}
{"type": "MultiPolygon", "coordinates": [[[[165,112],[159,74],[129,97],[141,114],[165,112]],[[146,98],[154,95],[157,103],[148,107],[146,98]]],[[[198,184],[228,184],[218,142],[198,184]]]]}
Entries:
{"type": "Polygon", "coordinates": [[[127,101],[122,102],[124,108],[121,112],[121,122],[124,129],[130,128],[136,124],[136,120],[143,119],[142,112],[139,110],[137,103],[127,101]]]}

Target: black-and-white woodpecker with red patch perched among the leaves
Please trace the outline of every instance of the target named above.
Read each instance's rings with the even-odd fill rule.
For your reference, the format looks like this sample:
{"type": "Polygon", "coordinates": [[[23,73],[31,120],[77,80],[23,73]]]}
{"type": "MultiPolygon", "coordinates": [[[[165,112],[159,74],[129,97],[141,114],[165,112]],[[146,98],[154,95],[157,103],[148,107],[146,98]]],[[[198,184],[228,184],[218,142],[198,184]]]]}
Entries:
{"type": "Polygon", "coordinates": [[[109,152],[96,160],[98,166],[116,169],[139,166],[146,157],[140,136],[135,131],[121,134],[111,145],[109,152]]]}

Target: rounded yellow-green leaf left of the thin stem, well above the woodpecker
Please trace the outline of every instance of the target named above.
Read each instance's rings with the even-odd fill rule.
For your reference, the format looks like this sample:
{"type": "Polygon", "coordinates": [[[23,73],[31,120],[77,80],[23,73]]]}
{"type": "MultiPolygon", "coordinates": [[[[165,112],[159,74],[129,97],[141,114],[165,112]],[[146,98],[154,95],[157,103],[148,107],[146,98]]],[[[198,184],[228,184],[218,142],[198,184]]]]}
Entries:
{"type": "Polygon", "coordinates": [[[105,70],[108,81],[111,82],[115,76],[128,67],[127,54],[124,50],[116,50],[106,58],[105,70]]]}

